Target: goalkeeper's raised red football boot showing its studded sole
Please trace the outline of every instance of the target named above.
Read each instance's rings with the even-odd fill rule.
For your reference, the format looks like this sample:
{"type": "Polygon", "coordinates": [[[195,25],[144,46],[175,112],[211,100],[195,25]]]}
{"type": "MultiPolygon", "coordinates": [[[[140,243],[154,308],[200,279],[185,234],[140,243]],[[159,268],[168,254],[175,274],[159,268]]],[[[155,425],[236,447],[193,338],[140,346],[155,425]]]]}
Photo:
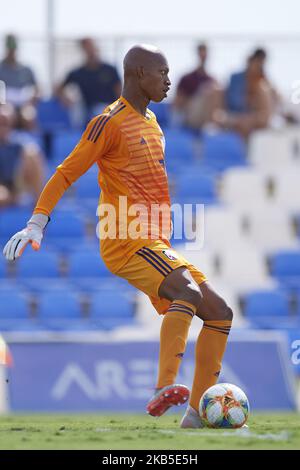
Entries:
{"type": "Polygon", "coordinates": [[[171,406],[179,406],[189,399],[190,391],[185,385],[173,384],[158,390],[147,405],[151,416],[163,415],[171,406]]]}

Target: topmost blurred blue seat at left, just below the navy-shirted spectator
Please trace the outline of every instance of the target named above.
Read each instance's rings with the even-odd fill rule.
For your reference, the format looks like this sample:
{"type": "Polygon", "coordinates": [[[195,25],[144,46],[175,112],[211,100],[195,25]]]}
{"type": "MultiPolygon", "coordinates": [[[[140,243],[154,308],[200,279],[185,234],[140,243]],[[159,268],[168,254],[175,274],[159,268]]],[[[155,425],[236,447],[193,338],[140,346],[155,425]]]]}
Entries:
{"type": "Polygon", "coordinates": [[[69,129],[71,125],[68,109],[57,98],[38,102],[37,120],[40,129],[46,132],[69,129]]]}

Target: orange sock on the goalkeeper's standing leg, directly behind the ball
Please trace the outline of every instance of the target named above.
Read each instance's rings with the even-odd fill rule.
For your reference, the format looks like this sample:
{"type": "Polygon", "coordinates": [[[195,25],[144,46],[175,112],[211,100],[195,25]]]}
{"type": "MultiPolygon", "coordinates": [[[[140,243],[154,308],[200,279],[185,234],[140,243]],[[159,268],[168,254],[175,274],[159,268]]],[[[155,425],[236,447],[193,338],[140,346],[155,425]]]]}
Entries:
{"type": "Polygon", "coordinates": [[[190,405],[198,411],[200,398],[218,380],[231,321],[205,321],[195,350],[195,375],[190,405]]]}

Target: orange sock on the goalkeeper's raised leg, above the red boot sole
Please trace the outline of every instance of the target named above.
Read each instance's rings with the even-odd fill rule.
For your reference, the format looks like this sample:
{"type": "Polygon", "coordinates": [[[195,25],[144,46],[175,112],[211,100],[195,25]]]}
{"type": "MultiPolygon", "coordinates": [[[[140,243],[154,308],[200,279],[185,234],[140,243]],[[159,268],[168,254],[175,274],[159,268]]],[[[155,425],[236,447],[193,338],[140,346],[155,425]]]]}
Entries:
{"type": "Polygon", "coordinates": [[[160,329],[157,388],[175,383],[195,312],[194,305],[183,300],[174,300],[164,315],[160,329]]]}

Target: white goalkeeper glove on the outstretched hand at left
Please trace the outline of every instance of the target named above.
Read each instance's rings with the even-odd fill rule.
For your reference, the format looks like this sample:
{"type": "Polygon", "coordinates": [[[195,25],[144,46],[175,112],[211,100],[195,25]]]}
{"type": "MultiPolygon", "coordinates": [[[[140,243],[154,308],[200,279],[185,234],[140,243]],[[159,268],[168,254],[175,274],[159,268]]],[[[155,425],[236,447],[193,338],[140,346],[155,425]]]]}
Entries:
{"type": "Polygon", "coordinates": [[[28,243],[31,243],[32,248],[37,251],[40,249],[41,241],[44,234],[44,229],[50,217],[44,214],[34,214],[27,222],[27,227],[17,232],[6,243],[3,254],[6,259],[13,261],[22,255],[28,243]]]}

